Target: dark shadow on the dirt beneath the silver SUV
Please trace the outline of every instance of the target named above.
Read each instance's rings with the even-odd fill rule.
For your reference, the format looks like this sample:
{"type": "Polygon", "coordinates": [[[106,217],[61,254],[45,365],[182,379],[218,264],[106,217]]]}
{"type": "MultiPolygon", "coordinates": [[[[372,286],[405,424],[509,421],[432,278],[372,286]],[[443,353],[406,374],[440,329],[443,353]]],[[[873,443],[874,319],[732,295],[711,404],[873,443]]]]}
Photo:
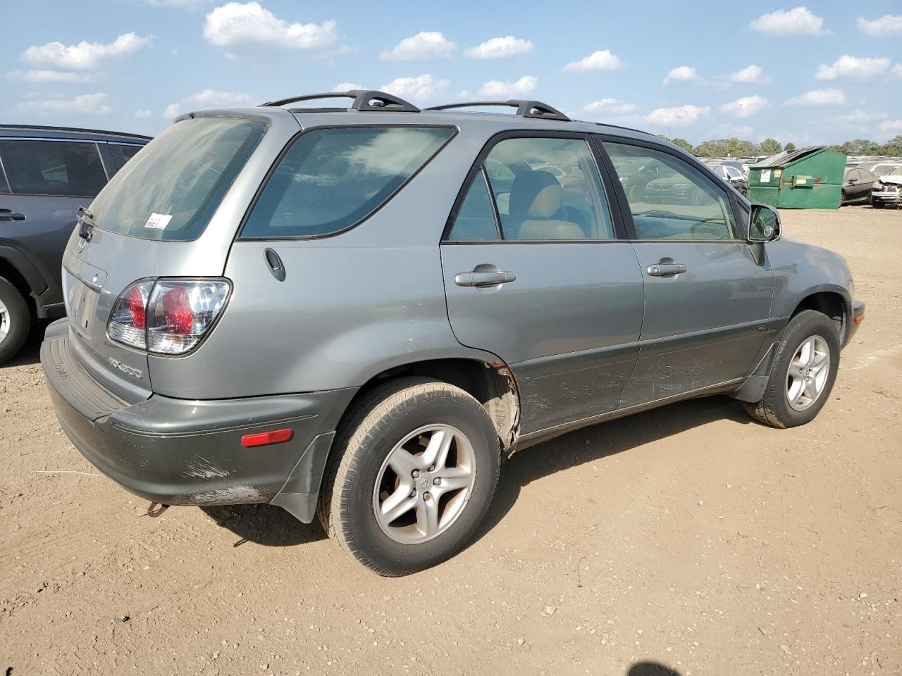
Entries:
{"type": "MultiPolygon", "coordinates": [[[[729,397],[705,397],[585,427],[515,453],[502,466],[502,476],[492,507],[474,542],[501,523],[517,502],[520,489],[532,481],[615,453],[630,451],[636,446],[656,442],[716,420],[730,420],[740,425],[752,423],[738,401],[729,397]]],[[[217,525],[241,538],[234,544],[236,547],[245,542],[287,547],[316,542],[326,537],[318,521],[302,524],[281,507],[232,505],[201,508],[217,525]]],[[[643,676],[646,673],[658,672],[630,671],[630,676],[643,676]]],[[[666,675],[672,672],[660,673],[666,675]]]]}

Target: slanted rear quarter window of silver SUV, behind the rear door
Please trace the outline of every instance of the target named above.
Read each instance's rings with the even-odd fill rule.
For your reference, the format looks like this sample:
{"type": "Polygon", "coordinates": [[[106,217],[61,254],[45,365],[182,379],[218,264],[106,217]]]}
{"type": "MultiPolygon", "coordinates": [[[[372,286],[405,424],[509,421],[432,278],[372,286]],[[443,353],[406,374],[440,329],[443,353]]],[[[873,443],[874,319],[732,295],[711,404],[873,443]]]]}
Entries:
{"type": "Polygon", "coordinates": [[[316,237],[388,201],[454,133],[447,127],[347,127],[301,134],[253,207],[242,236],[316,237]]]}

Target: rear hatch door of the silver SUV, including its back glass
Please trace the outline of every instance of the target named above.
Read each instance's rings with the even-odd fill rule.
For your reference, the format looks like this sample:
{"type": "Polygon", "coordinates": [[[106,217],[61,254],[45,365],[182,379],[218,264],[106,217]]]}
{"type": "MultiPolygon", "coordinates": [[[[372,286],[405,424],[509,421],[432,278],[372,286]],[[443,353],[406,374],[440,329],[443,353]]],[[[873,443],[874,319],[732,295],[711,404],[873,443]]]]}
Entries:
{"type": "Polygon", "coordinates": [[[272,115],[198,114],[173,124],[115,175],[69,238],[63,292],[73,350],[126,400],[153,390],[147,352],[107,334],[116,300],[141,279],[223,275],[244,211],[290,138],[283,129],[274,135],[281,140],[269,139],[272,115]]]}

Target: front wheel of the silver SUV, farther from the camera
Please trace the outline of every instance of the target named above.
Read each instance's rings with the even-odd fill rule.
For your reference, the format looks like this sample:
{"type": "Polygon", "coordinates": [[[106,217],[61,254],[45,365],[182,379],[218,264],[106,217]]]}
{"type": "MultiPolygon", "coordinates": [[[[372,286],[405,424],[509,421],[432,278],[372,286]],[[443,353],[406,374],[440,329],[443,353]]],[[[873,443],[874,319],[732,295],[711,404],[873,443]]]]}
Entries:
{"type": "Polygon", "coordinates": [[[803,310],[780,337],[764,397],[746,404],[746,410],[780,429],[810,423],[830,397],[839,365],[836,324],[823,313],[803,310]]]}

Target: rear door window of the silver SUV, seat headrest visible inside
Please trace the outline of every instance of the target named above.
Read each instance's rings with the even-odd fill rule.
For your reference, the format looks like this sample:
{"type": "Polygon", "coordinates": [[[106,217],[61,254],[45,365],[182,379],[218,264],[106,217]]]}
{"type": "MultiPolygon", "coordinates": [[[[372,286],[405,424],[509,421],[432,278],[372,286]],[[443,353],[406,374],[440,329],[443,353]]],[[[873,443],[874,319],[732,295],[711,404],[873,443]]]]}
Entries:
{"type": "Polygon", "coordinates": [[[582,138],[524,137],[496,143],[465,197],[449,239],[497,238],[488,222],[495,213],[504,240],[614,237],[602,179],[582,138]],[[490,195],[481,183],[491,188],[490,195]],[[486,197],[494,201],[493,208],[486,197]]]}

